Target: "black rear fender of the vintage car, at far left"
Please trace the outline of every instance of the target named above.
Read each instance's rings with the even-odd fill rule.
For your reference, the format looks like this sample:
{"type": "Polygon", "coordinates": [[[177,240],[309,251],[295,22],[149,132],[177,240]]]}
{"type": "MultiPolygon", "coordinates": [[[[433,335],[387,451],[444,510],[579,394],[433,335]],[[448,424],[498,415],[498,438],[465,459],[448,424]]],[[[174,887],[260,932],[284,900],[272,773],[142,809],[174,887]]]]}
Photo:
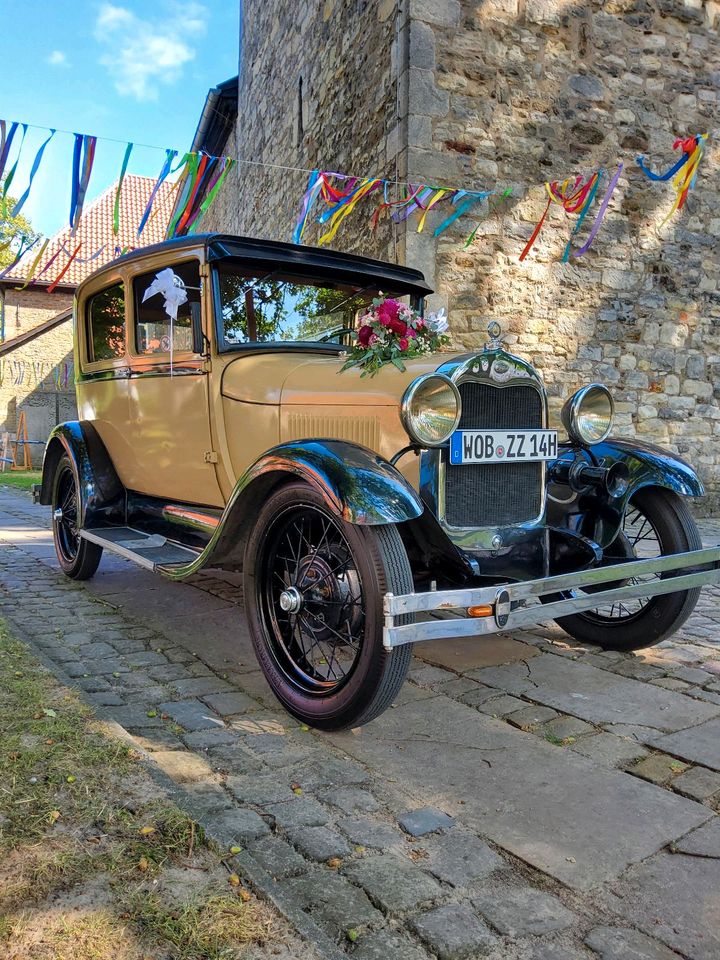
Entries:
{"type": "Polygon", "coordinates": [[[123,523],[125,488],[120,482],[105,444],[89,421],[69,420],[52,431],[45,446],[39,501],[52,503],[57,465],[67,454],[80,491],[78,523],[81,528],[123,523]]]}

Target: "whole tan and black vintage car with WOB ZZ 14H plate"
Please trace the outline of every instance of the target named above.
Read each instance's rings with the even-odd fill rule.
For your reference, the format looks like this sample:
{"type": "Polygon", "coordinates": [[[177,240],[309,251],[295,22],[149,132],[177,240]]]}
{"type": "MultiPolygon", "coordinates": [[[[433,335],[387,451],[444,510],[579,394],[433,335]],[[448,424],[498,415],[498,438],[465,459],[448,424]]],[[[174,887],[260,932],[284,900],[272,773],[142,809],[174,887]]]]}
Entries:
{"type": "MultiPolygon", "coordinates": [[[[600,384],[558,443],[538,372],[503,348],[341,372],[382,292],[421,273],[209,234],[127,254],[75,305],[79,421],[45,451],[58,560],[110,550],[182,580],[243,572],[255,651],[285,708],[323,729],[377,717],[412,644],[555,620],[633,650],[676,631],[720,549],[672,453],[611,439],[600,384]]],[[[492,325],[491,325],[492,326],[492,325]]]]}

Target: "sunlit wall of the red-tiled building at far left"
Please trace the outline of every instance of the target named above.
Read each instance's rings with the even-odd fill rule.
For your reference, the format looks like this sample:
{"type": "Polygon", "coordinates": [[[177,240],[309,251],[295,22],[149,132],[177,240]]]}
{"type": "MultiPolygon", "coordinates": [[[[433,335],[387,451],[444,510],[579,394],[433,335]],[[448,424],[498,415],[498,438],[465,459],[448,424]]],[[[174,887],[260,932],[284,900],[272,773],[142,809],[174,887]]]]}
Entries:
{"type": "MultiPolygon", "coordinates": [[[[11,340],[72,306],[72,295],[8,289],[5,335],[11,340]]],[[[72,321],[67,320],[0,358],[0,437],[14,434],[25,411],[34,466],[56,423],[77,418],[73,382],[72,321]],[[56,382],[59,376],[59,383],[56,382]]]]}

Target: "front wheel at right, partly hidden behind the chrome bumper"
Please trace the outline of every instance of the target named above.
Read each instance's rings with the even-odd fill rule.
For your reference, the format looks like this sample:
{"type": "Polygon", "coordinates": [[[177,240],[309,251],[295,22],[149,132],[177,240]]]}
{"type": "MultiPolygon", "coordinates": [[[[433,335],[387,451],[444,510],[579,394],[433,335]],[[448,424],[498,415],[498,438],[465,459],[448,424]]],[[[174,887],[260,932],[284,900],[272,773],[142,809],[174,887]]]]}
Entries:
{"type": "MultiPolygon", "coordinates": [[[[702,540],[686,504],[670,490],[652,487],[636,493],[613,544],[615,562],[648,560],[672,553],[699,550],[702,540]]],[[[612,548],[611,548],[612,549],[612,548]]],[[[662,574],[638,577],[630,583],[653,581],[662,574]]],[[[661,596],[607,600],[594,610],[556,621],[575,640],[604,650],[640,650],[675,633],[693,612],[698,587],[661,596]]]]}

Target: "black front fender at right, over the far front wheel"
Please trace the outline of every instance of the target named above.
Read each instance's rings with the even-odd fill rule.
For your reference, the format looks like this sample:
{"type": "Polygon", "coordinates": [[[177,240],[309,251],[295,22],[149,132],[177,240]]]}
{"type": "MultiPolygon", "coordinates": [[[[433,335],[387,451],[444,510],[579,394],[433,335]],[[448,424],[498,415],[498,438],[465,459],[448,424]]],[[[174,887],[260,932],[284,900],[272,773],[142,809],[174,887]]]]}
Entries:
{"type": "Polygon", "coordinates": [[[601,547],[615,539],[630,499],[643,487],[662,487],[683,497],[701,497],[705,492],[697,473],[682,457],[643,440],[609,438],[588,450],[561,445],[561,451],[561,459],[580,456],[603,467],[615,463],[627,467],[628,485],[619,497],[598,489],[571,496],[564,485],[551,485],[548,491],[548,523],[570,527],[601,547]],[[568,502],[559,502],[564,500],[568,502]]]}

